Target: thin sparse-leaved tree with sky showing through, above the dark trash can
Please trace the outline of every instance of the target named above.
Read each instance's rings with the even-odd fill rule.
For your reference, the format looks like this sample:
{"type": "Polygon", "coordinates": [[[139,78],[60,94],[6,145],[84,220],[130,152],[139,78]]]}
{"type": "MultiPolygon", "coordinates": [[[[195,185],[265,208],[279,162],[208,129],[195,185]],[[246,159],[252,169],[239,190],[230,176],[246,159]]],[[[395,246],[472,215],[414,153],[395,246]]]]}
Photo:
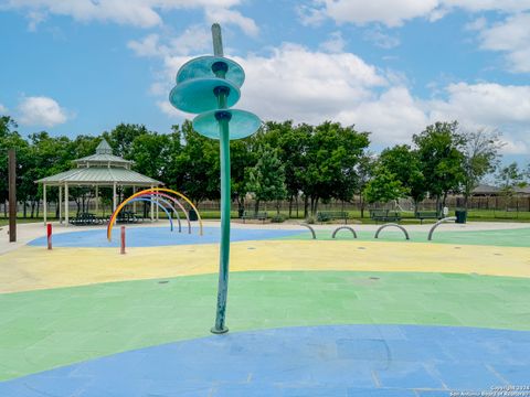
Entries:
{"type": "Polygon", "coordinates": [[[469,196],[480,180],[494,172],[498,165],[499,150],[502,148],[500,135],[497,131],[487,132],[481,129],[464,133],[464,206],[467,208],[469,196]]]}

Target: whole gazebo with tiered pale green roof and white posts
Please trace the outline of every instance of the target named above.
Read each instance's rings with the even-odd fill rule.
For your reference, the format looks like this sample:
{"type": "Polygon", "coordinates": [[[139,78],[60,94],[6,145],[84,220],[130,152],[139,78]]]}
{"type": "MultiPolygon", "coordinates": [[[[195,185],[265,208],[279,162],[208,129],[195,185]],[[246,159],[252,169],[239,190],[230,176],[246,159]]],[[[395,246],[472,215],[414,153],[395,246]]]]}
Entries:
{"type": "MultiPolygon", "coordinates": [[[[95,186],[96,189],[96,212],[98,211],[98,190],[102,186],[113,187],[113,211],[116,210],[116,189],[118,186],[155,187],[163,185],[162,182],[142,175],[130,169],[132,161],[125,160],[113,154],[113,149],[104,139],[96,148],[96,153],[74,160],[77,168],[59,174],[46,176],[35,181],[42,183],[44,223],[47,217],[46,187],[59,187],[59,219],[62,221],[62,201],[64,191],[64,222],[68,225],[68,186],[95,186]]],[[[136,204],[136,203],[135,203],[136,204]]],[[[153,219],[153,206],[151,205],[151,221],[153,219]]]]}

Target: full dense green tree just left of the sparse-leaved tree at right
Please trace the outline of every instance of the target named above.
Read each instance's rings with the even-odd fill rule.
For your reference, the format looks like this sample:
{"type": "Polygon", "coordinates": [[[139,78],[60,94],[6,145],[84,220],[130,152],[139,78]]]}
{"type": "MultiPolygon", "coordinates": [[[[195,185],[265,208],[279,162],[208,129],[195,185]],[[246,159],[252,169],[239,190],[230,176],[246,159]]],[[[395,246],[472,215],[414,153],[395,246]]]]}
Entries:
{"type": "Polygon", "coordinates": [[[436,197],[436,211],[445,206],[449,192],[457,192],[464,181],[465,138],[458,122],[436,122],[413,136],[428,193],[436,197]]]}

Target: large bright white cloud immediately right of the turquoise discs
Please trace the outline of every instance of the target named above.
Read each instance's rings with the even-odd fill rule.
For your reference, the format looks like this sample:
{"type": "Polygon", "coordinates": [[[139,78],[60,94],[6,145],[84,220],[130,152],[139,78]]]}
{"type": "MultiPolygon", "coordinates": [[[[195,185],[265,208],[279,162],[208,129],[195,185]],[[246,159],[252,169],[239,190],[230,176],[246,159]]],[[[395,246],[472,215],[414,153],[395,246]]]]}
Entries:
{"type": "Polygon", "coordinates": [[[295,44],[275,49],[269,57],[236,61],[246,73],[241,107],[264,119],[333,119],[344,105],[365,100],[372,88],[386,84],[357,55],[311,52],[295,44]]]}

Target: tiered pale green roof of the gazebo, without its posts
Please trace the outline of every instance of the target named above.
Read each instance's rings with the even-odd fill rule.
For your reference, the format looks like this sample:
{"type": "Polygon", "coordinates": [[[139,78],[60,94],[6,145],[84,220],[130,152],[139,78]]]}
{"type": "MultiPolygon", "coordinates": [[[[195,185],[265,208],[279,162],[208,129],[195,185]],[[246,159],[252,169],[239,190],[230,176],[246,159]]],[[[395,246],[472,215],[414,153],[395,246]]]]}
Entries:
{"type": "Polygon", "coordinates": [[[158,186],[163,183],[130,169],[132,161],[113,154],[113,149],[104,139],[96,153],[74,160],[77,168],[35,182],[46,185],[140,185],[158,186]]]}

